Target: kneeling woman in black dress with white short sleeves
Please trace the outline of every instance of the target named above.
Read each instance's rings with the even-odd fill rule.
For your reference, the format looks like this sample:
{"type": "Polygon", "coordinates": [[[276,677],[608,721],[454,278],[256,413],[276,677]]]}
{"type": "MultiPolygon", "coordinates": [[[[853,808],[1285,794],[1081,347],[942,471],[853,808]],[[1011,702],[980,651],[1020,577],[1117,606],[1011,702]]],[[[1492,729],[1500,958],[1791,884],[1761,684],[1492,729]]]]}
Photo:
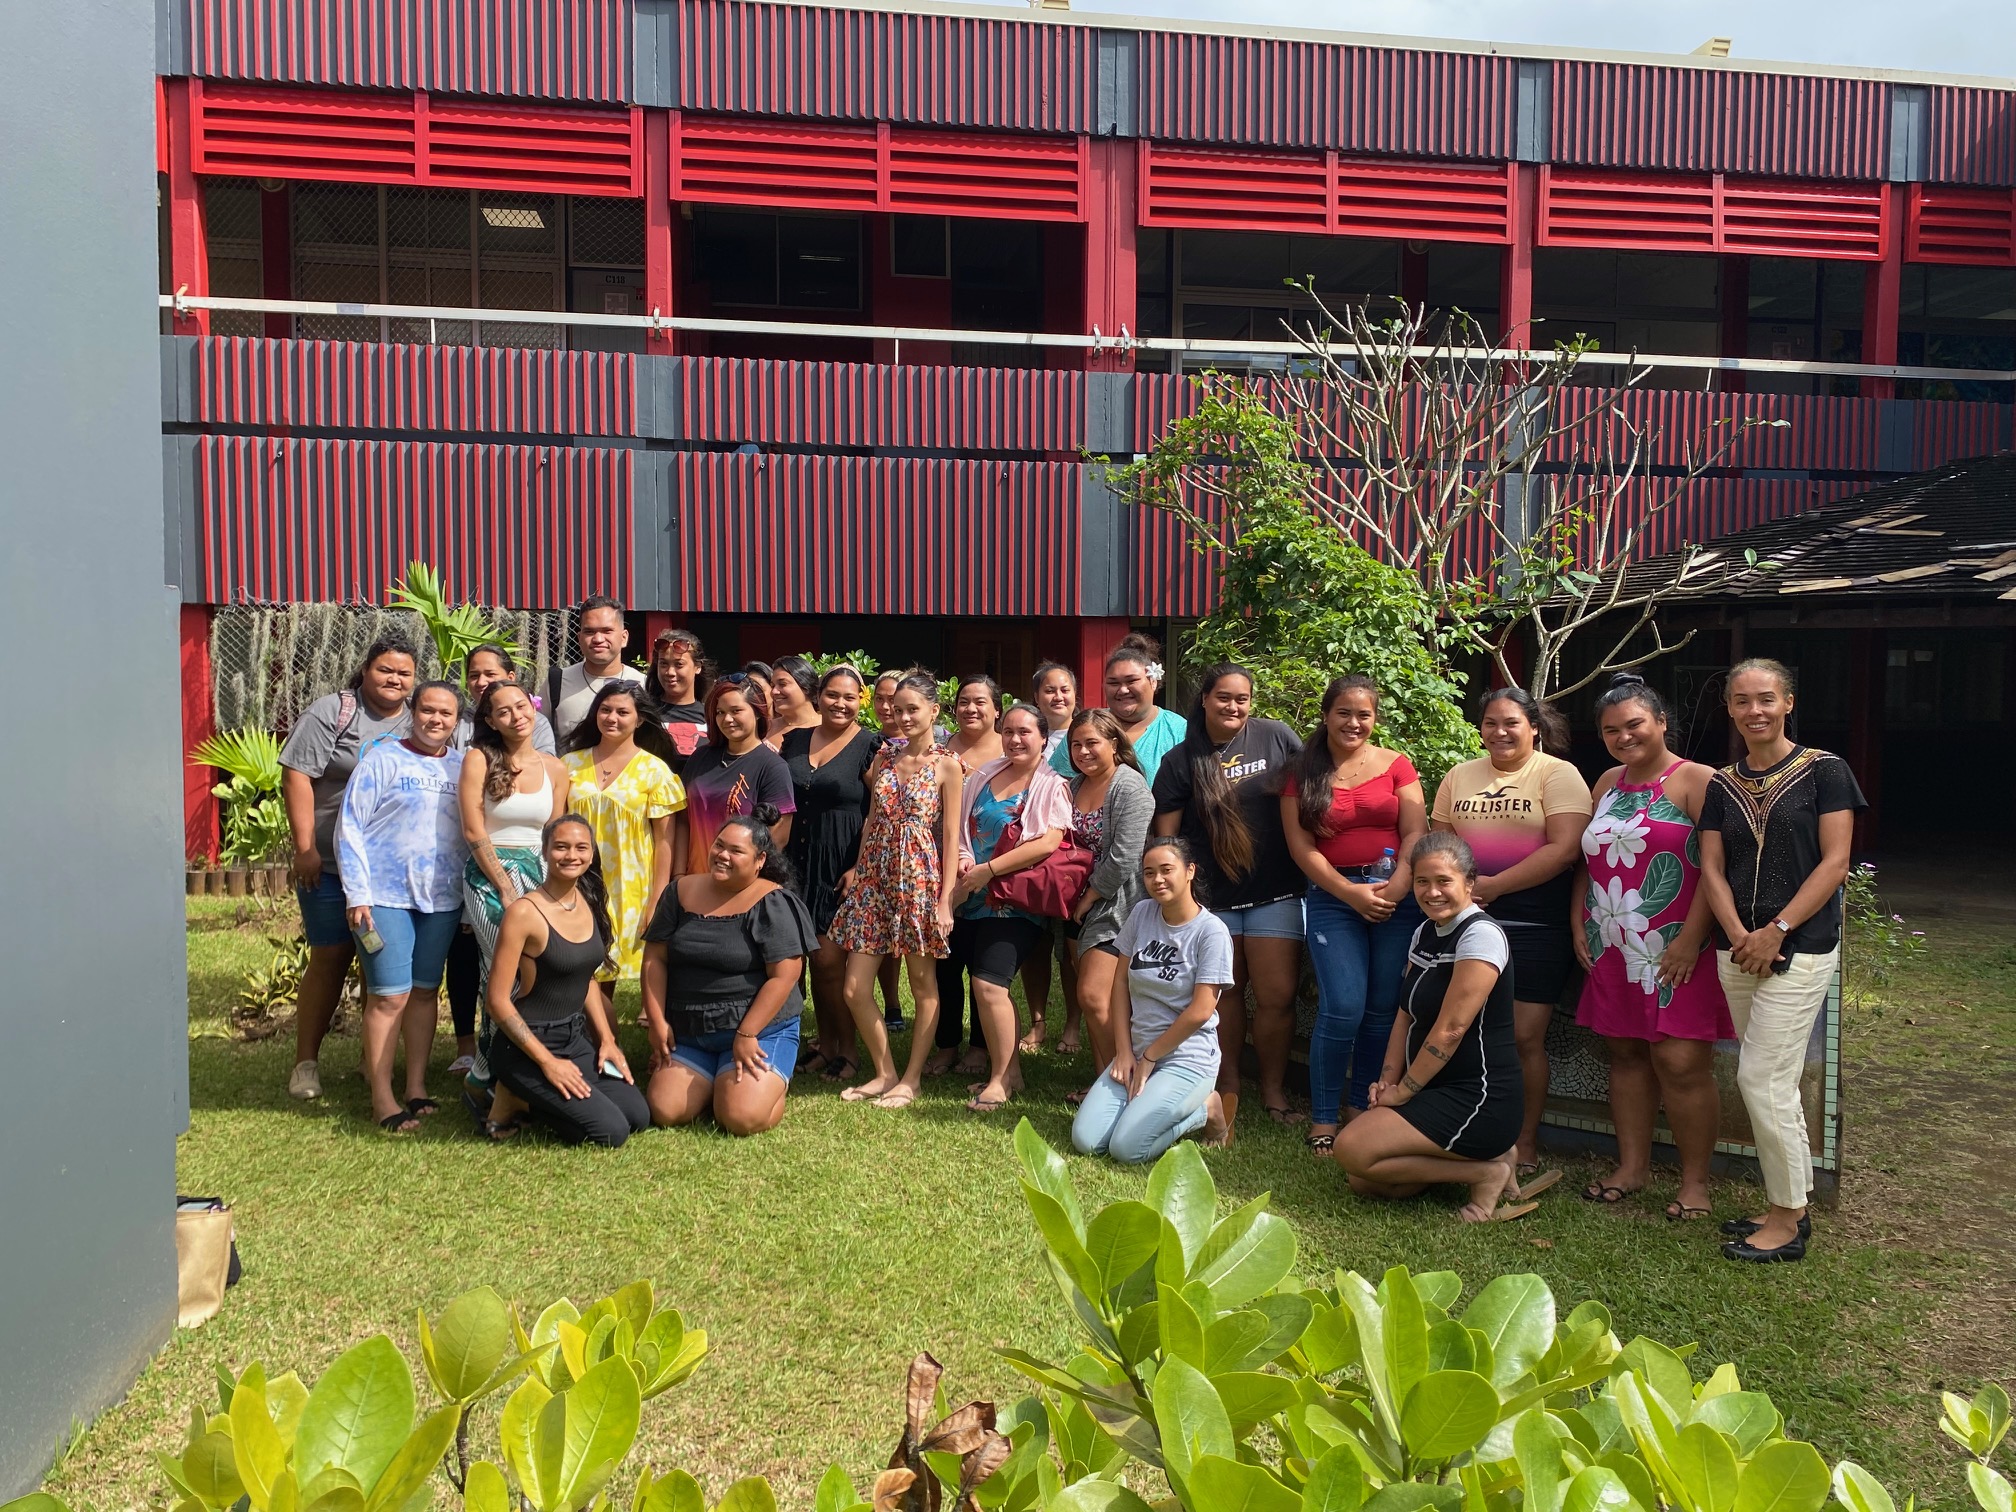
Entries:
{"type": "MultiPolygon", "coordinates": [[[[1413,847],[1413,899],[1427,921],[1407,950],[1407,984],[1371,1107],[1337,1133],[1337,1163],[1361,1198],[1413,1198],[1464,1181],[1466,1224],[1522,1218],[1514,1145],[1526,1113],[1512,1028],[1512,948],[1472,899],[1478,861],[1437,831],[1413,847]]],[[[1538,1189],[1538,1187],[1536,1187],[1538,1189]]]]}

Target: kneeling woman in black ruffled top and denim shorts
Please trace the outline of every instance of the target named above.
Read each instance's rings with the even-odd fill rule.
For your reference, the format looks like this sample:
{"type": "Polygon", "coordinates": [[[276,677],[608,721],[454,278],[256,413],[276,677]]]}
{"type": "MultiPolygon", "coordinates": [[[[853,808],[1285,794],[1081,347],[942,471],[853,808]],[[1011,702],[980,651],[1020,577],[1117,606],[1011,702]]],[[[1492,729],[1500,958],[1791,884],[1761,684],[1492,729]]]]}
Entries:
{"type": "Polygon", "coordinates": [[[798,980],[818,937],[790,889],[774,816],[764,806],[726,821],[708,869],[675,877],[645,929],[647,1091],[659,1125],[712,1109],[726,1133],[752,1135],[784,1117],[804,1016],[798,980]]]}

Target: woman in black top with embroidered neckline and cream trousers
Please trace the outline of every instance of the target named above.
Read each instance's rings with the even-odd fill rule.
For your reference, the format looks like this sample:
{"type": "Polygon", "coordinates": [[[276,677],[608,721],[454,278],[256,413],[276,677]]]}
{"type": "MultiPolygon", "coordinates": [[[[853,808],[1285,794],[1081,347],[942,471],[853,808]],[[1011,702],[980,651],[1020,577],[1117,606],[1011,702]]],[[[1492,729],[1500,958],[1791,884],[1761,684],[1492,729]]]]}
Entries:
{"type": "Polygon", "coordinates": [[[1812,1236],[1812,1145],[1800,1075],[1841,964],[1841,883],[1855,810],[1867,804],[1845,760],[1786,736],[1794,689],[1782,663],[1736,663],[1728,704],[1746,750],[1702,794],[1702,887],[1728,943],[1716,964],[1744,1046],[1736,1085],[1770,1206],[1760,1218],[1726,1222],[1732,1238],[1722,1254],[1802,1260],[1812,1236]]]}

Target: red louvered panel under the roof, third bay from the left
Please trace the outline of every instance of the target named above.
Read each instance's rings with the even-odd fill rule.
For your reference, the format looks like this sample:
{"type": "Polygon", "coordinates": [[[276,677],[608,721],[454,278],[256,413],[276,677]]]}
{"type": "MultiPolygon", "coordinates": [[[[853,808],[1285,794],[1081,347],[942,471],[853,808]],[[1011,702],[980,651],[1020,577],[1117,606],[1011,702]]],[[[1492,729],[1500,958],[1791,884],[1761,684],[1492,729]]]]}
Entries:
{"type": "Polygon", "coordinates": [[[1512,165],[1141,143],[1143,226],[1506,242],[1512,165]]]}

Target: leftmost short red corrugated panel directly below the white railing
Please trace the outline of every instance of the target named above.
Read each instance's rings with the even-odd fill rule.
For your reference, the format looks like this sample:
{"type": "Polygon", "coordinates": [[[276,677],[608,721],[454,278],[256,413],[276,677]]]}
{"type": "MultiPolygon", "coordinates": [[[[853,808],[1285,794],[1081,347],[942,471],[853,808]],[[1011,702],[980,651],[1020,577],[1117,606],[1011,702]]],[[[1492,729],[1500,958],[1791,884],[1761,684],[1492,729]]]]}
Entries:
{"type": "Polygon", "coordinates": [[[635,435],[631,353],[204,337],[196,423],[635,435]]]}

